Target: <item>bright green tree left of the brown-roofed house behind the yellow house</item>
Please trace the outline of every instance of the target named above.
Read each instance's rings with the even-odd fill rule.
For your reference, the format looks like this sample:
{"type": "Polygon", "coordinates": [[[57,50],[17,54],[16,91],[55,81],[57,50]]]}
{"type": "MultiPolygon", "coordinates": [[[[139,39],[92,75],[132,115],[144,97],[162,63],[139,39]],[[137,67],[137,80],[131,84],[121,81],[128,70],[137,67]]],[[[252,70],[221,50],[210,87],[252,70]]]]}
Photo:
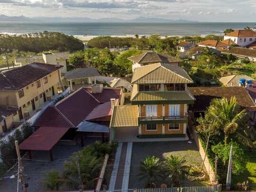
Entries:
{"type": "Polygon", "coordinates": [[[132,61],[127,60],[127,58],[135,56],[137,54],[141,54],[141,52],[142,51],[136,49],[130,49],[122,52],[119,56],[115,58],[114,62],[119,68],[120,75],[122,77],[132,73],[132,61]]]}

